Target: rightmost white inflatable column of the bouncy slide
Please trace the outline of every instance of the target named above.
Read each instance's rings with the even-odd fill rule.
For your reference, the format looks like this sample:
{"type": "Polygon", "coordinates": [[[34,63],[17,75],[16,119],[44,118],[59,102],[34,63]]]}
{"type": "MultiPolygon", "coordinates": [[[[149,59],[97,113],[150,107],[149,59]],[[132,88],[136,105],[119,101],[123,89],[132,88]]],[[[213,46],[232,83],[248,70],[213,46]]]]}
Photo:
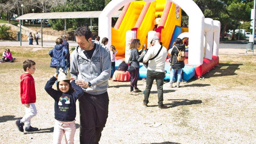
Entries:
{"type": "Polygon", "coordinates": [[[221,33],[221,22],[220,21],[218,21],[218,20],[213,21],[213,32],[214,32],[214,40],[213,40],[212,55],[219,56],[220,33],[221,33]]]}

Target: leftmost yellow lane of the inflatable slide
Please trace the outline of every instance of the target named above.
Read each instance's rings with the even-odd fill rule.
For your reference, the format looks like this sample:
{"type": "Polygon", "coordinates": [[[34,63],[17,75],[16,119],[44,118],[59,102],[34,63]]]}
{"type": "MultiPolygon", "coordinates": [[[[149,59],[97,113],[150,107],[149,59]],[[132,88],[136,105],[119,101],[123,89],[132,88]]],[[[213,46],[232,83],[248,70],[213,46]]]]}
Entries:
{"type": "Polygon", "coordinates": [[[112,45],[115,46],[118,53],[116,56],[122,56],[125,54],[125,37],[126,31],[131,30],[134,28],[139,15],[141,14],[141,10],[145,5],[144,1],[133,1],[131,2],[122,23],[120,24],[119,29],[111,29],[111,38],[112,38],[112,45]]]}

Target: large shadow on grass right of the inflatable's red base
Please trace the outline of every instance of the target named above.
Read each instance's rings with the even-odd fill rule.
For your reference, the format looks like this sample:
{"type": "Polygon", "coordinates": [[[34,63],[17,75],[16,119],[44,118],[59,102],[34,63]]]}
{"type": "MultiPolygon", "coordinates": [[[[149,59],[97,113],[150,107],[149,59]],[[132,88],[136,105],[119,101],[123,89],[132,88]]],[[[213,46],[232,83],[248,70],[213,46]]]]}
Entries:
{"type": "Polygon", "coordinates": [[[216,66],[215,70],[212,69],[208,73],[204,74],[203,76],[205,78],[209,78],[209,77],[223,77],[223,76],[237,75],[235,73],[235,71],[240,70],[240,68],[239,68],[240,65],[243,65],[243,64],[239,64],[239,63],[235,63],[235,64],[219,63],[219,66],[216,66]],[[224,68],[224,67],[226,67],[226,68],[224,68]]]}

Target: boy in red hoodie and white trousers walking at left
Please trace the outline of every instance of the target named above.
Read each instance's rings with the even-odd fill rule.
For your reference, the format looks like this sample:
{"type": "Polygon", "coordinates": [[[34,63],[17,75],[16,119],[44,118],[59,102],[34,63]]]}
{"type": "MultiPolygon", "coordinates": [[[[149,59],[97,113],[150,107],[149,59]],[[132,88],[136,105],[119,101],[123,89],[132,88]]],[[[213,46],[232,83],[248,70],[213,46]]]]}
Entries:
{"type": "Polygon", "coordinates": [[[25,106],[25,116],[21,120],[16,120],[15,124],[21,132],[24,132],[24,124],[25,131],[37,131],[38,128],[30,125],[30,119],[37,114],[35,107],[35,81],[31,75],[35,73],[35,62],[32,60],[24,61],[23,69],[25,73],[20,76],[20,98],[21,103],[25,106]]]}

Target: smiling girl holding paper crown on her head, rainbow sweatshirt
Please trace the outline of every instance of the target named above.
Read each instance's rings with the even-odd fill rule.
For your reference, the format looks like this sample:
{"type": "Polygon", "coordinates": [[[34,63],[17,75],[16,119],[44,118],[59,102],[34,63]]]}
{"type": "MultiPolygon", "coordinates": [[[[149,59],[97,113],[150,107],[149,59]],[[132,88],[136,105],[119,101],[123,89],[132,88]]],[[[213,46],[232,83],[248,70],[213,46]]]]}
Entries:
{"type": "Polygon", "coordinates": [[[66,144],[74,143],[74,135],[76,131],[76,101],[83,95],[83,89],[75,84],[74,78],[70,78],[70,71],[63,73],[60,68],[59,74],[54,74],[45,85],[45,91],[54,99],[54,116],[55,124],[53,131],[53,143],[61,143],[63,134],[65,133],[66,144]],[[52,86],[57,82],[57,90],[52,86]]]}

